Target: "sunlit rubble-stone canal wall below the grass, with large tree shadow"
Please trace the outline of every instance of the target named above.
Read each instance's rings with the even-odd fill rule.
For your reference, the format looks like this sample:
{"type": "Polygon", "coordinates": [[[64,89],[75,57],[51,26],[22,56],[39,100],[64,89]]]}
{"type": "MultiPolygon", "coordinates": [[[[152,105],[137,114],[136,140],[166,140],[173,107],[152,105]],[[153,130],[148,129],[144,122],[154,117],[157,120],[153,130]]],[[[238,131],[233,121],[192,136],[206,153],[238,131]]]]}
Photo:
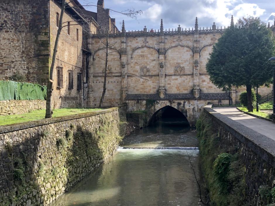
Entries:
{"type": "Polygon", "coordinates": [[[104,162],[125,134],[125,108],[0,127],[0,205],[48,205],[104,162]]]}

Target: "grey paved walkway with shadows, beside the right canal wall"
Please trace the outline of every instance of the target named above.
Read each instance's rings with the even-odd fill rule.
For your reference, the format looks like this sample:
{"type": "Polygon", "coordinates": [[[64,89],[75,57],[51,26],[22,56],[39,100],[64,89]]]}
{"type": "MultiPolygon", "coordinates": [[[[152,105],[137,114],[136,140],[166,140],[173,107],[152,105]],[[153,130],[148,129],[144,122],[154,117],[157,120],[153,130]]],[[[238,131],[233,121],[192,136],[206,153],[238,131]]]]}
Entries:
{"type": "Polygon", "coordinates": [[[275,124],[272,122],[252,117],[243,112],[240,112],[233,107],[214,107],[213,110],[225,115],[226,117],[229,117],[232,120],[239,122],[240,124],[243,124],[246,127],[249,127],[250,129],[253,129],[254,131],[259,132],[260,134],[263,134],[275,140],[275,124]]]}

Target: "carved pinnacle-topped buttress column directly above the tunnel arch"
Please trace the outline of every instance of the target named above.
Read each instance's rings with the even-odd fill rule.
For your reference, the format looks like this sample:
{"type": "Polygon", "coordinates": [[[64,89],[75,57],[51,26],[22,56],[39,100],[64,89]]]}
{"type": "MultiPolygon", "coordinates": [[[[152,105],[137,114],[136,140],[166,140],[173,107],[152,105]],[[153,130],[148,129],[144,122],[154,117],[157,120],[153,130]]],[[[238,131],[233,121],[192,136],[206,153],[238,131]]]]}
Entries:
{"type": "Polygon", "coordinates": [[[159,33],[159,97],[165,97],[165,49],[164,49],[164,32],[163,22],[161,19],[159,33]]]}

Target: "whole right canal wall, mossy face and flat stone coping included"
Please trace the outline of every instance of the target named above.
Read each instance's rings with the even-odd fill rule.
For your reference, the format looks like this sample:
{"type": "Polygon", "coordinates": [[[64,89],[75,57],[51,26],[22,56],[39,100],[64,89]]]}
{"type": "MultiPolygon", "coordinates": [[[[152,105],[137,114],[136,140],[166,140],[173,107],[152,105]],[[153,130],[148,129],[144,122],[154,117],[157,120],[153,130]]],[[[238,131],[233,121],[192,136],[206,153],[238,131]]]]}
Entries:
{"type": "Polygon", "coordinates": [[[211,108],[196,126],[210,205],[273,206],[274,141],[211,108]]]}

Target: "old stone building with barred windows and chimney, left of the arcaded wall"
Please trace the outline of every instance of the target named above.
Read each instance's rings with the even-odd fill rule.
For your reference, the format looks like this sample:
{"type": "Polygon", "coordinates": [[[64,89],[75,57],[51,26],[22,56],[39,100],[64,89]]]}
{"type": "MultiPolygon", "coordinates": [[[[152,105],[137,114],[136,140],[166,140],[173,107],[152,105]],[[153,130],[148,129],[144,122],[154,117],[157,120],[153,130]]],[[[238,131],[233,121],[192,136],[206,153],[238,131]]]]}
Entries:
{"type": "MultiPolygon", "coordinates": [[[[53,73],[56,108],[86,105],[88,68],[92,61],[90,35],[97,33],[100,26],[95,19],[119,32],[103,1],[98,3],[98,13],[85,10],[77,0],[66,2],[53,73]]],[[[21,74],[29,82],[47,84],[60,13],[61,2],[56,0],[1,1],[1,80],[21,74]]]]}

